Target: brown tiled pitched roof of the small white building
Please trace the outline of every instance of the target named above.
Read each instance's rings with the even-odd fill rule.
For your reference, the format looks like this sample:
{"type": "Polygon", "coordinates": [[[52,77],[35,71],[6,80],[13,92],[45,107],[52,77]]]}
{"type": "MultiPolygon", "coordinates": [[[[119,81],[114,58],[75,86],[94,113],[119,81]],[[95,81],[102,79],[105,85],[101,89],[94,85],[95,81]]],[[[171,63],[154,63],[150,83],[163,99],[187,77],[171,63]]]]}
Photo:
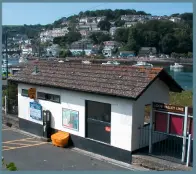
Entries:
{"type": "Polygon", "coordinates": [[[157,78],[164,81],[171,91],[183,89],[162,68],[138,68],[124,65],[98,65],[55,61],[38,61],[27,64],[9,78],[17,83],[63,88],[137,99],[157,78]]]}

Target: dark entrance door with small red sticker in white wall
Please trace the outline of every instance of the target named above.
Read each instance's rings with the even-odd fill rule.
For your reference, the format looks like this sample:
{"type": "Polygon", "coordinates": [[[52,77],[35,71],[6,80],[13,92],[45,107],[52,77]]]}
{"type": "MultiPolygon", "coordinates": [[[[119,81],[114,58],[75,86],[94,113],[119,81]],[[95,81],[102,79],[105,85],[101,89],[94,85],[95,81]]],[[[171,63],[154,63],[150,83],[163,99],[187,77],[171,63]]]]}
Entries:
{"type": "Polygon", "coordinates": [[[86,101],[86,137],[110,144],[111,105],[86,101]]]}

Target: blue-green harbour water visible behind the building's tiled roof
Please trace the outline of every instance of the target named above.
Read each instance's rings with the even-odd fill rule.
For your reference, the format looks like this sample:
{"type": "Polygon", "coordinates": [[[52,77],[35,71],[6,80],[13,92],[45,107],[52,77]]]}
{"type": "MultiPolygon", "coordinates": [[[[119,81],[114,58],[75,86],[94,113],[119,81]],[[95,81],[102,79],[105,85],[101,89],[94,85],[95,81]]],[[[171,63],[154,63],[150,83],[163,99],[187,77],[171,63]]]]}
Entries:
{"type": "MultiPolygon", "coordinates": [[[[19,63],[18,59],[11,59],[8,63],[12,65],[17,65],[19,63]]],[[[163,67],[163,65],[156,65],[163,67]]],[[[181,85],[184,90],[192,90],[193,87],[193,68],[190,66],[185,66],[181,71],[170,70],[169,65],[164,66],[165,70],[181,85]]]]}

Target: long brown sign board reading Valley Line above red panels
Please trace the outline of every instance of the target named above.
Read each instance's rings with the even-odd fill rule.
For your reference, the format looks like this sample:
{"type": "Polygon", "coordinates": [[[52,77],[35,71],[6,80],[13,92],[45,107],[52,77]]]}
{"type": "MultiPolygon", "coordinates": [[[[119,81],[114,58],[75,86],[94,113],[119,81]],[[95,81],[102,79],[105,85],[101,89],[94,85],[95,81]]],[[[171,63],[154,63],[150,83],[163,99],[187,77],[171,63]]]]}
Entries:
{"type": "Polygon", "coordinates": [[[185,112],[185,107],[183,106],[175,106],[164,103],[153,103],[153,108],[156,110],[162,110],[167,112],[178,112],[183,114],[185,112]]]}

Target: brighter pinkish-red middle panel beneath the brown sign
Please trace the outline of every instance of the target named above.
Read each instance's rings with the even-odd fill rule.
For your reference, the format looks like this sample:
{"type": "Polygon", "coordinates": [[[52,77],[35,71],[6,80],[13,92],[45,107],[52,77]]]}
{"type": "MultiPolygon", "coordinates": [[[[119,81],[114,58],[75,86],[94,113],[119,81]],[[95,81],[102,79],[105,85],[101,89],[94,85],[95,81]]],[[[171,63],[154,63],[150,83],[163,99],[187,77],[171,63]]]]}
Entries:
{"type": "Polygon", "coordinates": [[[184,127],[183,122],[184,122],[184,117],[171,115],[169,133],[175,135],[183,135],[183,127],[184,127]]]}

